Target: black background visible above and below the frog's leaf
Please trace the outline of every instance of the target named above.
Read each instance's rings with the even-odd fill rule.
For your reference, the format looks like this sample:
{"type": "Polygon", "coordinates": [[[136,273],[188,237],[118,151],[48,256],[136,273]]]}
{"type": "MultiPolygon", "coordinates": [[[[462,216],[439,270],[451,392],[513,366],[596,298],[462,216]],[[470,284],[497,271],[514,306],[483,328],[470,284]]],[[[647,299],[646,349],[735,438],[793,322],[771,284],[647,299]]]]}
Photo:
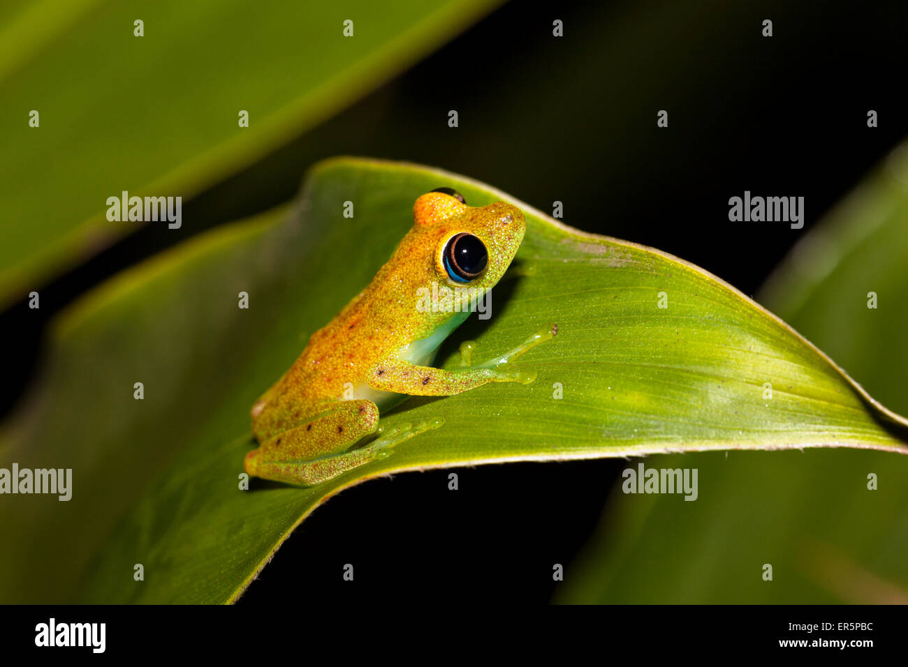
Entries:
{"type": "MultiPolygon", "coordinates": [[[[168,245],[286,201],[312,162],[336,154],[439,166],[543,211],[563,201],[568,224],[666,250],[754,294],[908,135],[908,11],[903,2],[726,5],[737,4],[505,5],[187,202],[179,233],[149,226],[43,289],[40,311],[22,301],[5,312],[0,406],[11,409],[35,376],[46,322],[67,303],[168,245]],[[765,18],[771,38],[761,36],[765,18]],[[656,127],[660,109],[668,128],[656,127]],[[728,198],[745,190],[804,196],[804,229],[729,222],[728,198]]],[[[458,491],[448,490],[449,471],[371,481],[316,510],[240,604],[547,602],[552,564],[569,566],[623,466],[480,466],[457,471],[458,491]],[[353,583],[341,578],[348,563],[353,583]]]]}

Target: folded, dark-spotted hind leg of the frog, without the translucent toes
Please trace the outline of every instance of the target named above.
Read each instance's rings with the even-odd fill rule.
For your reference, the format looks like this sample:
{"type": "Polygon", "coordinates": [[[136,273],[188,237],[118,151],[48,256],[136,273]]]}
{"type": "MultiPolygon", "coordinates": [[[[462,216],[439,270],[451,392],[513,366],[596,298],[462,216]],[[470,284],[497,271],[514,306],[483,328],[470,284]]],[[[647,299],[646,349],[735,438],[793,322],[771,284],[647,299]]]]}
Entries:
{"type": "Polygon", "coordinates": [[[379,425],[379,408],[370,400],[338,401],[311,421],[265,440],[246,455],[253,476],[314,486],[380,455],[381,446],[344,452],[379,425]]]}

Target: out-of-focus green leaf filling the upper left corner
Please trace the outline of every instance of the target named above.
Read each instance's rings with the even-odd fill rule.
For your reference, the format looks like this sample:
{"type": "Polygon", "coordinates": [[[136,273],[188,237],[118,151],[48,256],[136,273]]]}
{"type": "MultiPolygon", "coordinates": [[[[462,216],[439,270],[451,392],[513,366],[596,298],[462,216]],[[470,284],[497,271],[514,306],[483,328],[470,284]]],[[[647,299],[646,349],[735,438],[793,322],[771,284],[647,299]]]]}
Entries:
{"type": "MultiPolygon", "coordinates": [[[[0,309],[139,222],[107,198],[192,196],[331,117],[496,0],[46,0],[0,11],[0,309]],[[144,36],[133,21],[144,22],[144,36]],[[353,21],[352,37],[343,22],[353,21]],[[40,125],[29,126],[35,110],[40,125]],[[249,127],[239,113],[249,113],[249,127]],[[35,180],[54,183],[35,196],[35,180]]],[[[191,224],[189,221],[184,221],[191,224]]]]}

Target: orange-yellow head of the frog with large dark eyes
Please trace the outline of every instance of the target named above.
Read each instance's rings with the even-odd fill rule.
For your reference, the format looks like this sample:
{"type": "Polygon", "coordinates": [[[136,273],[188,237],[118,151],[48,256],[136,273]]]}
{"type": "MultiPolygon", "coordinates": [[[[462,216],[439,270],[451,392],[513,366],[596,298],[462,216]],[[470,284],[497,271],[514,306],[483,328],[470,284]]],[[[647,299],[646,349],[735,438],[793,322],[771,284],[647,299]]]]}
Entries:
{"type": "Polygon", "coordinates": [[[431,249],[439,282],[489,289],[517,254],[527,221],[512,204],[467,206],[458,192],[439,188],[413,204],[413,229],[431,249]]]}

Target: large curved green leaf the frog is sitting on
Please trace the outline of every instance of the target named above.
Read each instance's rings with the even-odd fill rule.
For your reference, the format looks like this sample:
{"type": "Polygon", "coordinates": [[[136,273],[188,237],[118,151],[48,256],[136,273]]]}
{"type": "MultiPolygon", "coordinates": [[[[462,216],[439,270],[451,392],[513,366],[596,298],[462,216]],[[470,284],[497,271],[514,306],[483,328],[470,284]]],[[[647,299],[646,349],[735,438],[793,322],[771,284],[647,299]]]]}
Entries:
{"type": "Polygon", "coordinates": [[[0,571],[15,573],[0,599],[111,603],[231,601],[326,497],[392,472],[678,449],[906,448],[900,417],[705,271],[572,230],[476,181],[360,159],[321,162],[293,207],[191,240],[76,304],[0,442],[4,462],[74,468],[68,503],[8,496],[15,511],[0,530],[20,548],[0,556],[0,571]],[[390,257],[412,202],[441,185],[472,205],[513,201],[528,232],[492,319],[469,320],[439,365],[457,368],[464,339],[478,341],[481,360],[555,322],[558,336],[514,365],[538,378],[410,399],[383,422],[444,426],[321,486],[239,490],[252,402],[390,257]]]}

